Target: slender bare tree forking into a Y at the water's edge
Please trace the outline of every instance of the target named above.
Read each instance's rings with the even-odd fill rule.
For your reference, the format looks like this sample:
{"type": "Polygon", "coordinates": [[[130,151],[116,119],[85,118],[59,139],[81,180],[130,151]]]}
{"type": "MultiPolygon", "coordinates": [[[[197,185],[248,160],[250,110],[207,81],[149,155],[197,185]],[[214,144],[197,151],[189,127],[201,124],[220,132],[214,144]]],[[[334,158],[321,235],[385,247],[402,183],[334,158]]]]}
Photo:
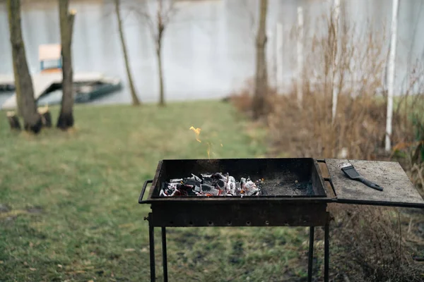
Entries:
{"type": "Polygon", "coordinates": [[[139,0],[143,5],[134,8],[134,11],[139,13],[139,16],[146,21],[148,28],[155,42],[156,59],[158,59],[158,74],[159,74],[159,90],[160,98],[159,105],[165,106],[165,89],[163,85],[163,66],[162,66],[162,44],[163,34],[167,25],[170,23],[170,19],[175,13],[174,0],[156,0],[155,1],[155,15],[149,13],[148,2],[145,0],[139,0]]]}

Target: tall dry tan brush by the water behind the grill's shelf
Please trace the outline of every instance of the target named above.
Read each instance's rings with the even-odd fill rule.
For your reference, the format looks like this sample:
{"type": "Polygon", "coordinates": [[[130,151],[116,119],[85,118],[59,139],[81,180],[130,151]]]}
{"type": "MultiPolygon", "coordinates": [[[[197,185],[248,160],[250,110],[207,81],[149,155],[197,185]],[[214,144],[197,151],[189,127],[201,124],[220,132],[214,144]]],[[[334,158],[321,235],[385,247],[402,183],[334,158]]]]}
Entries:
{"type": "MultiPolygon", "coordinates": [[[[270,97],[268,124],[274,149],[292,157],[388,159],[391,156],[384,153],[385,32],[374,30],[371,25],[360,30],[346,22],[336,28],[333,11],[323,19],[326,32],[314,35],[310,38],[312,44],[305,45],[307,68],[303,72],[302,105],[296,102],[296,90],[270,97]],[[332,122],[334,91],[338,93],[338,101],[332,122]]],[[[418,71],[415,67],[412,71],[415,75],[408,78],[407,94],[419,99],[422,96],[412,90],[424,89],[418,85],[424,84],[420,79],[424,68],[418,71]]],[[[409,117],[411,111],[417,111],[412,107],[424,109],[424,102],[406,104],[406,99],[401,99],[394,111],[391,136],[394,145],[411,145],[416,141],[415,127],[409,117]]]]}

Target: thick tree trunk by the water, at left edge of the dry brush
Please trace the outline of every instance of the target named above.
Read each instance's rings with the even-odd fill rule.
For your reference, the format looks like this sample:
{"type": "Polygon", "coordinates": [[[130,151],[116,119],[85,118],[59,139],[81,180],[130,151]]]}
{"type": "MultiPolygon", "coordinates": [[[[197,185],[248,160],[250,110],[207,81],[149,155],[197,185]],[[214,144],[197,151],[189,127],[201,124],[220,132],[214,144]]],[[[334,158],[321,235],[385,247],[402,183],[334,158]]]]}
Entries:
{"type": "Polygon", "coordinates": [[[259,27],[256,39],[256,78],[253,97],[253,118],[264,114],[265,97],[268,91],[268,73],[266,67],[266,10],[268,0],[261,0],[259,6],[259,27]]]}

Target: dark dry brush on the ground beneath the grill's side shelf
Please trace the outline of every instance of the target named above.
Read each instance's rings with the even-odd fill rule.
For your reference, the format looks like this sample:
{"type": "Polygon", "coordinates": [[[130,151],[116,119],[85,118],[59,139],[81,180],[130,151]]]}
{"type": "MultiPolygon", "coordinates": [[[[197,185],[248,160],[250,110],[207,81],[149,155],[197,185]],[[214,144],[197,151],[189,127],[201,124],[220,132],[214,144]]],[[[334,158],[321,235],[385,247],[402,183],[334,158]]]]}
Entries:
{"type": "Polygon", "coordinates": [[[423,281],[424,267],[394,208],[334,204],[331,271],[340,281],[423,281]]]}

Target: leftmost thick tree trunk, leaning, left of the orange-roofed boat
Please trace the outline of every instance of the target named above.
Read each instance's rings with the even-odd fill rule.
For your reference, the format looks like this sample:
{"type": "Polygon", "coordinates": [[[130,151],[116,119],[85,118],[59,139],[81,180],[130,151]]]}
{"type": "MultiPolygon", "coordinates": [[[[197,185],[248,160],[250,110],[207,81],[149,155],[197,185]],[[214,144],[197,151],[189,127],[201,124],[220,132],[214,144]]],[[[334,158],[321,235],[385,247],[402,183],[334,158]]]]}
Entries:
{"type": "Polygon", "coordinates": [[[8,23],[15,76],[16,105],[23,116],[25,130],[38,133],[42,127],[41,117],[35,105],[33,80],[25,56],[22,30],[20,27],[20,0],[7,0],[8,23]]]}

